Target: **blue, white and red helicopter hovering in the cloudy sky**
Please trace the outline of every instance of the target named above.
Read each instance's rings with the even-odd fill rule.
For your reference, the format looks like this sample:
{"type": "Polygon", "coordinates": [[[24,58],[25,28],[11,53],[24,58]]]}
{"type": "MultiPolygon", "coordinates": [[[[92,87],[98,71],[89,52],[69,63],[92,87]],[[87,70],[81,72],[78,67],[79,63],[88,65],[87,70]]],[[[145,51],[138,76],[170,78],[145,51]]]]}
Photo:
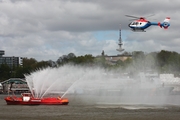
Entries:
{"type": "MultiPolygon", "coordinates": [[[[159,26],[164,29],[168,29],[170,26],[170,17],[166,17],[163,22],[150,22],[146,20],[145,17],[136,17],[131,15],[125,15],[126,17],[131,17],[134,20],[128,26],[134,32],[146,32],[145,29],[151,25],[159,26]]],[[[149,16],[150,17],[150,16],[149,16]]]]}

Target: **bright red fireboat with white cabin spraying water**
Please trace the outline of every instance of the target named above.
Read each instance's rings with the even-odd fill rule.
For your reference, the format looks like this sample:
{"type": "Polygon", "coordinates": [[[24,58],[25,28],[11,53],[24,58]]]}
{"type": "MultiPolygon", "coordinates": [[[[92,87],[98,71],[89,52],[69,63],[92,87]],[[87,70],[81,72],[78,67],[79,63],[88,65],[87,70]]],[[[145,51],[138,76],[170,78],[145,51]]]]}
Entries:
{"type": "Polygon", "coordinates": [[[7,105],[68,105],[67,98],[44,97],[35,98],[31,93],[22,93],[20,97],[15,95],[4,98],[7,105]]]}

